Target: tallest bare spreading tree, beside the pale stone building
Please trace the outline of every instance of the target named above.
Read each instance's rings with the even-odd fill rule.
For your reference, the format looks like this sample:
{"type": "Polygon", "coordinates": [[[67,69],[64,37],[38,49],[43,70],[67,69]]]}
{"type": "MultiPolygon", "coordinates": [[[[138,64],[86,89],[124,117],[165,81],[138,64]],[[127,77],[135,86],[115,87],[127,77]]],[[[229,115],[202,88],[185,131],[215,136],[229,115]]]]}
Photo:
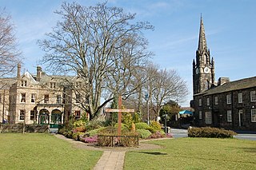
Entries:
{"type": "MultiPolygon", "coordinates": [[[[62,20],[38,42],[46,51],[42,62],[48,69],[74,72],[82,79],[82,97],[86,97],[82,107],[90,118],[98,116],[115,95],[128,97],[136,91],[138,85],[130,83],[151,55],[142,30],[153,26],[133,22],[135,14],[106,2],[90,7],[64,2],[55,13],[62,20]]],[[[81,88],[76,91],[81,96],[81,88]]]]}

